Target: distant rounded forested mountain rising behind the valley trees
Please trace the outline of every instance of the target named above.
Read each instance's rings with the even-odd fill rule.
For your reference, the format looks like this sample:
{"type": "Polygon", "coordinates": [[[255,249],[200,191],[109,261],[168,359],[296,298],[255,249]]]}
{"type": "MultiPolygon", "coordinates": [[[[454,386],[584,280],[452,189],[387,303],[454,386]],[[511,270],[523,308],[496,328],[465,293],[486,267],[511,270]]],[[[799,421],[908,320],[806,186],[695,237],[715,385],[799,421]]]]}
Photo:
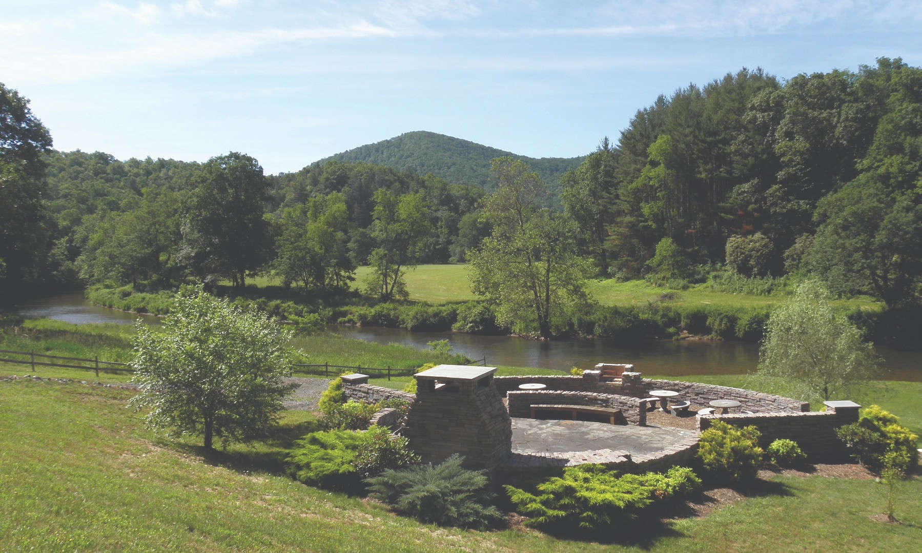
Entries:
{"type": "Polygon", "coordinates": [[[321,159],[319,163],[330,160],[362,161],[420,175],[432,173],[448,182],[477,185],[491,191],[495,187],[495,182],[490,179],[491,159],[506,156],[525,161],[548,186],[553,198],[560,195],[561,175],[585,159],[528,158],[454,136],[415,131],[355,147],[321,159]]]}

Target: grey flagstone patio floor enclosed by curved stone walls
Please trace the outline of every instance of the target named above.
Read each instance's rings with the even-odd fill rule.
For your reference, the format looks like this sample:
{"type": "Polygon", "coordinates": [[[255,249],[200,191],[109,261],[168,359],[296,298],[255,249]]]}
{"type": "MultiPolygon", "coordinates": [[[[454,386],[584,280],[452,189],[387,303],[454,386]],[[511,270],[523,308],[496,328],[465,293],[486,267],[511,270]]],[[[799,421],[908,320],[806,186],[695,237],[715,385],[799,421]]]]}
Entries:
{"type": "Polygon", "coordinates": [[[692,430],[656,426],[513,418],[513,453],[555,458],[578,453],[571,461],[589,452],[609,452],[606,457],[640,456],[673,450],[697,435],[692,430]]]}

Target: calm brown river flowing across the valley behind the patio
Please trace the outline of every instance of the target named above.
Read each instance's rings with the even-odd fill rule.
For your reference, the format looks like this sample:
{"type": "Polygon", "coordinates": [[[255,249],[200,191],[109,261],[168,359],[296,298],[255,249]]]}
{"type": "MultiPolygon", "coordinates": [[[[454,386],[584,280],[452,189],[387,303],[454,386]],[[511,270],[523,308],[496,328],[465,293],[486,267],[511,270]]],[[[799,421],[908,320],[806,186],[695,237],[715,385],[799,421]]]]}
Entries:
{"type": "MultiPolygon", "coordinates": [[[[89,304],[82,294],[68,294],[19,306],[19,314],[73,324],[131,324],[140,316],[149,323],[157,317],[120,312],[89,304]]],[[[335,326],[331,331],[379,344],[406,344],[425,349],[427,342],[448,340],[454,350],[471,359],[487,358],[491,366],[512,365],[568,371],[590,369],[599,362],[632,363],[646,374],[741,374],[753,371],[759,345],[737,341],[640,340],[631,345],[609,340],[539,342],[515,336],[469,335],[453,332],[410,332],[398,328],[335,326]]],[[[886,360],[886,380],[922,382],[922,353],[879,348],[886,360]]]]}

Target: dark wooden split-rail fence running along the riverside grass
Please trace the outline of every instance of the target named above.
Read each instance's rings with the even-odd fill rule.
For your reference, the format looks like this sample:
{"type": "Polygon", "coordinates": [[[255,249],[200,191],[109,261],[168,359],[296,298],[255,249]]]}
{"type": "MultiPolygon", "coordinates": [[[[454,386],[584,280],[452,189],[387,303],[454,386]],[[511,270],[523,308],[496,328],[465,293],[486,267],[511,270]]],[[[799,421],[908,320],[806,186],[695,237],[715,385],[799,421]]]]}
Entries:
{"type": "MultiPolygon", "coordinates": [[[[118,363],[115,361],[101,361],[99,356],[93,359],[83,359],[83,358],[69,358],[62,357],[59,355],[48,355],[45,353],[35,353],[34,351],[14,351],[11,349],[0,349],[0,362],[2,363],[17,363],[19,365],[30,365],[32,372],[35,372],[35,367],[61,367],[65,369],[82,369],[84,371],[95,371],[96,376],[100,375],[102,372],[134,372],[127,363],[118,363]],[[19,359],[13,359],[9,356],[22,356],[19,359]],[[28,359],[26,359],[28,357],[28,359]],[[51,359],[51,361],[43,361],[42,359],[51,359]],[[79,364],[78,364],[79,363],[79,364]]],[[[487,358],[477,359],[472,361],[472,363],[478,363],[480,365],[487,364],[487,358]]],[[[372,378],[387,378],[391,380],[392,376],[410,376],[416,369],[392,369],[390,366],[379,368],[379,367],[362,367],[361,365],[351,366],[351,365],[331,365],[329,363],[294,363],[294,372],[300,372],[301,374],[323,374],[324,376],[337,375],[342,373],[344,370],[361,372],[362,374],[367,374],[372,378]]]]}

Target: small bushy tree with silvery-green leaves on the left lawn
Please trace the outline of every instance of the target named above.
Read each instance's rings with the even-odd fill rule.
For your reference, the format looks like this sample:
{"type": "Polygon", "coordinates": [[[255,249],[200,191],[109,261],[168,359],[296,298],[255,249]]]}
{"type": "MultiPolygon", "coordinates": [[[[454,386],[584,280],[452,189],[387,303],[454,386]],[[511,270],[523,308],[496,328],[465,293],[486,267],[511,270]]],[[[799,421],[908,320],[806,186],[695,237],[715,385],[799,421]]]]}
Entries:
{"type": "Polygon", "coordinates": [[[148,425],[247,441],[263,435],[290,393],[290,332],[228,300],[183,289],[162,329],[137,324],[131,405],[148,425]]]}

